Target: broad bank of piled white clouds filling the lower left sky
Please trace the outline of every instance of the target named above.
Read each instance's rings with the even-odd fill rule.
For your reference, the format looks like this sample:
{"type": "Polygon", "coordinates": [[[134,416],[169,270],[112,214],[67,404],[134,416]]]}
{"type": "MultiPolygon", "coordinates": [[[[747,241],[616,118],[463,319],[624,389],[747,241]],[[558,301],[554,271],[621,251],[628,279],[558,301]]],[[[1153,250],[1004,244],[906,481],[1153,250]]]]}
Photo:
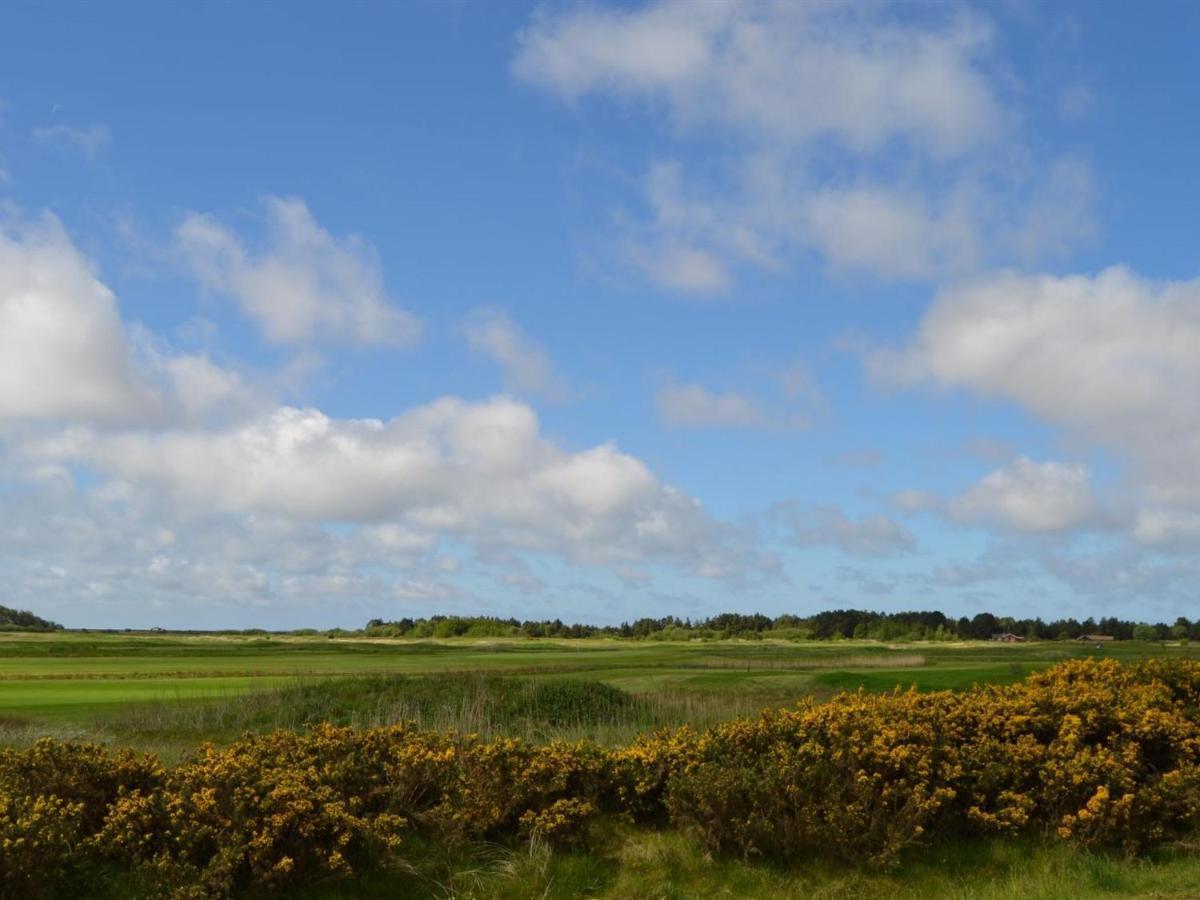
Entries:
{"type": "MultiPolygon", "coordinates": [[[[515,326],[474,324],[510,377],[557,390],[548,362],[520,368],[536,347],[515,326]]],[[[331,604],[464,596],[460,552],[473,554],[472,577],[521,590],[542,584],[542,558],[703,578],[770,571],[750,535],[642,461],[612,444],[564,448],[515,400],[445,397],[349,420],[274,395],[269,377],[211,348],[181,353],[124,323],[56,220],[5,220],[8,596],[65,598],[49,608],[89,624],[94,608],[108,622],[124,610],[198,624],[209,608],[226,619],[284,604],[332,624],[344,616],[331,604]]]]}

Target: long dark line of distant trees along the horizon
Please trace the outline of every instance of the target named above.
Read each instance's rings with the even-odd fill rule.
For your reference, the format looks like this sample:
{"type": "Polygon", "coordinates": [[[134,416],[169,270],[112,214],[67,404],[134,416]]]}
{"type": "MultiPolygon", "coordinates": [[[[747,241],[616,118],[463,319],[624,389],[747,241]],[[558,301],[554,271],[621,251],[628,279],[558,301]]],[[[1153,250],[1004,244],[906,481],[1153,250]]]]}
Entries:
{"type": "Polygon", "coordinates": [[[629,637],[686,640],[774,637],[791,641],[866,638],[877,641],[986,641],[1010,632],[1034,641],[1066,641],[1082,635],[1108,635],[1117,641],[1200,640],[1200,619],[1180,617],[1174,624],[1102,619],[1016,619],[980,612],[950,618],[941,612],[868,612],[830,610],[814,616],[743,614],[725,612],[706,619],[666,616],[619,625],[566,624],[559,619],[520,622],[486,616],[433,616],[421,619],[372,619],[364,629],[371,637],[629,637]]]}

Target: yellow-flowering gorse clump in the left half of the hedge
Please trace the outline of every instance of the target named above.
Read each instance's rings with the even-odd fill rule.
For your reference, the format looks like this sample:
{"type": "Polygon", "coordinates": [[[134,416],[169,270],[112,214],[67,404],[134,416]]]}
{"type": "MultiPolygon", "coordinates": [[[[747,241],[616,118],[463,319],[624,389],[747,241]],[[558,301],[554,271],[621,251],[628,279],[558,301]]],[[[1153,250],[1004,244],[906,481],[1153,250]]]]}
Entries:
{"type": "Polygon", "coordinates": [[[594,748],[320,725],[206,745],[156,794],[122,796],[97,850],[206,895],[282,888],[385,862],[410,830],[442,840],[540,830],[576,840],[604,755],[594,748]]]}

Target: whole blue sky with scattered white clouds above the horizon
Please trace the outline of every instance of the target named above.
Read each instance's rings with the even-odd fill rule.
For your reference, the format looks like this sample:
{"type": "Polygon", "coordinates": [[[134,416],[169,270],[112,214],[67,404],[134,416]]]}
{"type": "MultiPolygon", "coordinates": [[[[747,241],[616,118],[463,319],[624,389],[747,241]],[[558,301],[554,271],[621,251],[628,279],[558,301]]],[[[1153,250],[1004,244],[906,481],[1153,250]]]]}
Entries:
{"type": "Polygon", "coordinates": [[[18,2],[0,604],[1200,605],[1200,7],[18,2]]]}

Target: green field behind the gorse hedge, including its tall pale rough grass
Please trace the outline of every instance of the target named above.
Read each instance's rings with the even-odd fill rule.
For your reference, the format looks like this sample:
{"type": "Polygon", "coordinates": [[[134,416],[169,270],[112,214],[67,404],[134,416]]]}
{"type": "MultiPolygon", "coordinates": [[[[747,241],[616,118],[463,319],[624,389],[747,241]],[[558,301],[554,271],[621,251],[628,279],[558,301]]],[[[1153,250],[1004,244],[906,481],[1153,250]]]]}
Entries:
{"type": "Polygon", "coordinates": [[[859,686],[956,690],[1016,680],[1073,656],[1147,655],[1200,658],[1200,647],[10,634],[0,635],[0,743],[50,733],[174,756],[239,730],[330,718],[616,742],[859,686]],[[602,684],[634,702],[619,714],[551,726],[536,715],[512,720],[492,709],[509,684],[497,678],[602,684]]]}

